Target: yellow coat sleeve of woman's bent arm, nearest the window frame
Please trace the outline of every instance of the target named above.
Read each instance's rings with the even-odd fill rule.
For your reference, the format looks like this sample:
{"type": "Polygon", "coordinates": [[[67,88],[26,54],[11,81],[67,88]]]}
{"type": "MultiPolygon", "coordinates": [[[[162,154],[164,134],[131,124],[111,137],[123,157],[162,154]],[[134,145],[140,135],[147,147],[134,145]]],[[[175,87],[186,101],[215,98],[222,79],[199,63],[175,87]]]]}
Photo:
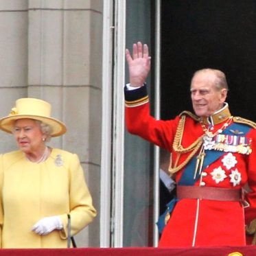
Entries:
{"type": "MultiPolygon", "coordinates": [[[[75,235],[91,223],[97,214],[77,154],[72,154],[69,163],[69,205],[71,235],[75,235]]],[[[64,226],[61,237],[67,239],[67,214],[60,218],[64,226]]]]}

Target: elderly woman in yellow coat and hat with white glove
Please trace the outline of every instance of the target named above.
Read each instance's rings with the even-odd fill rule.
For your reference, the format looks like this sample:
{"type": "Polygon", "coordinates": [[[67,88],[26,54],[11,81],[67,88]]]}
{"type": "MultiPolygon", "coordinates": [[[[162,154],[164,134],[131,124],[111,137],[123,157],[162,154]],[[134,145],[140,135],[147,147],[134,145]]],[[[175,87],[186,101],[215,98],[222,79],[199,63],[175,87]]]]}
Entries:
{"type": "Polygon", "coordinates": [[[1,248],[65,248],[69,231],[96,216],[78,156],[45,145],[66,132],[50,113],[48,102],[22,98],[0,119],[19,147],[0,155],[1,248]]]}

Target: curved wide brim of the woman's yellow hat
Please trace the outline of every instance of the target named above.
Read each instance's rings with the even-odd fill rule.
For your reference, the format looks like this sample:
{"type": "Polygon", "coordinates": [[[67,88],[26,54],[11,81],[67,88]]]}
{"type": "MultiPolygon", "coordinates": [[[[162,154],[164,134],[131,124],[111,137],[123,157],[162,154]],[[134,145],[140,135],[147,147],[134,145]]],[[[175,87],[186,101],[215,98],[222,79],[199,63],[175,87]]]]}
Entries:
{"type": "Polygon", "coordinates": [[[51,127],[51,137],[63,135],[67,131],[65,124],[61,121],[52,117],[40,117],[38,115],[11,115],[3,117],[0,119],[0,129],[5,132],[12,133],[14,121],[18,119],[34,119],[43,121],[43,123],[48,124],[51,127]]]}

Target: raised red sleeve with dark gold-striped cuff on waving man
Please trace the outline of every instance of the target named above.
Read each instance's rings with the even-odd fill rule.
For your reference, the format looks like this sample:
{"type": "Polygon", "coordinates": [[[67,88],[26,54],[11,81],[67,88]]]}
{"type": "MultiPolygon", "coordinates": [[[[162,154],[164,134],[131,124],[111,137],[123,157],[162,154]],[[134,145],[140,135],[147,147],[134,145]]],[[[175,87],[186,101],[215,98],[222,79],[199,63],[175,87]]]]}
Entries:
{"type": "Polygon", "coordinates": [[[124,95],[128,132],[172,152],[172,142],[180,118],[164,121],[152,117],[146,84],[132,91],[125,87],[124,95]]]}

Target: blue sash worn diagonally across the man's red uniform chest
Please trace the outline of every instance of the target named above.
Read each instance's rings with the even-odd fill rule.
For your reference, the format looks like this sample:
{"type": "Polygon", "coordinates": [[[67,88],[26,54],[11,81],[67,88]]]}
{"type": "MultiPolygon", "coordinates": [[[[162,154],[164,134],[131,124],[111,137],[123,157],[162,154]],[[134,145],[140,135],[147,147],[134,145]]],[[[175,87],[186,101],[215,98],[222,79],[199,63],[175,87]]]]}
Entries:
{"type": "MultiPolygon", "coordinates": [[[[238,130],[240,133],[242,132],[243,136],[245,136],[251,130],[251,127],[246,126],[244,124],[233,123],[228,128],[223,130],[221,135],[234,135],[234,133],[231,132],[231,130],[238,130]]],[[[219,150],[205,150],[205,154],[205,161],[202,165],[202,170],[204,170],[205,167],[207,167],[207,165],[210,165],[214,161],[220,159],[220,157],[223,154],[226,154],[226,152],[219,150]]],[[[194,170],[196,168],[196,156],[193,156],[189,163],[187,163],[181,176],[181,180],[178,182],[178,185],[191,186],[194,185],[196,181],[198,181],[200,174],[196,174],[196,178],[194,179],[194,170]]]]}

